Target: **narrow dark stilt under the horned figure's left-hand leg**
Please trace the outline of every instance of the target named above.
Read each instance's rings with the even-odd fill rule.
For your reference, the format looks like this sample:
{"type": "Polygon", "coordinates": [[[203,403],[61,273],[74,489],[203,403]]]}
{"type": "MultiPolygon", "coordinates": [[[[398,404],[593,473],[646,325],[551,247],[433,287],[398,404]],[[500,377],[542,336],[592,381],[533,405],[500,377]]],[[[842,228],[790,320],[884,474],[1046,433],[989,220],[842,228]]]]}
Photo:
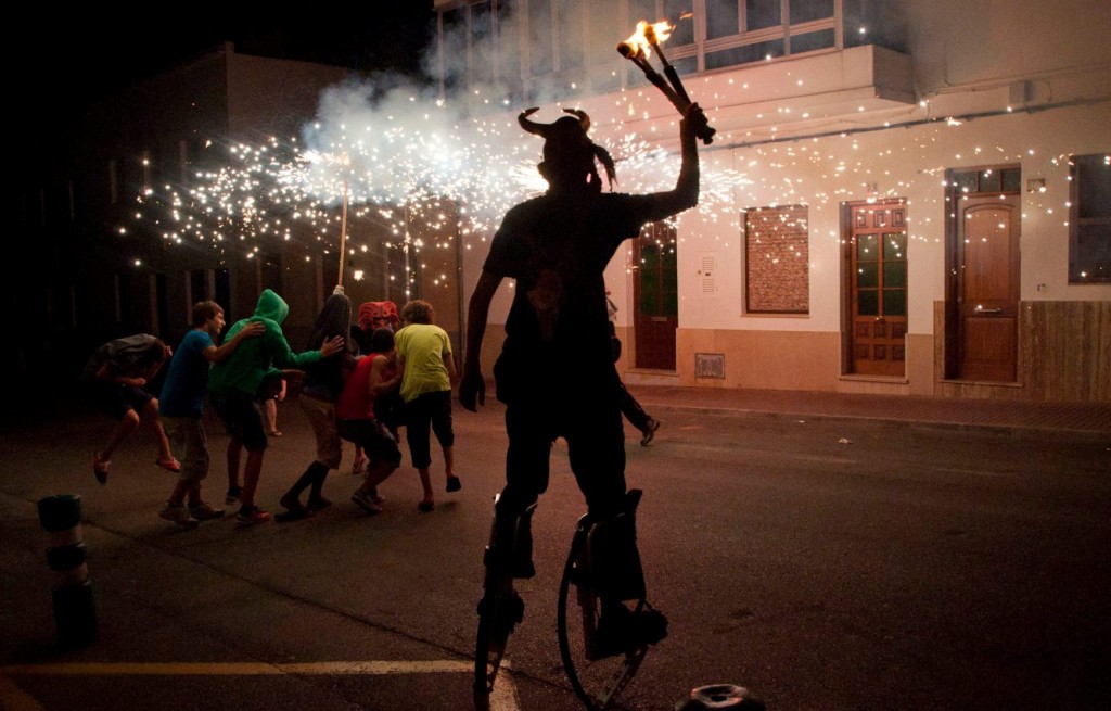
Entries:
{"type": "MultiPolygon", "coordinates": [[[[498,497],[494,497],[496,507],[498,497]]],[[[526,511],[521,520],[527,520],[534,510],[536,504],[526,511]]],[[[524,619],[524,601],[513,588],[510,557],[499,554],[499,551],[494,550],[496,525],[496,523],[490,524],[490,541],[483,554],[486,574],[482,581],[482,599],[479,600],[478,607],[479,630],[474,643],[476,711],[489,711],[490,694],[493,693],[498,672],[501,671],[506,658],[509,635],[524,619]]]]}

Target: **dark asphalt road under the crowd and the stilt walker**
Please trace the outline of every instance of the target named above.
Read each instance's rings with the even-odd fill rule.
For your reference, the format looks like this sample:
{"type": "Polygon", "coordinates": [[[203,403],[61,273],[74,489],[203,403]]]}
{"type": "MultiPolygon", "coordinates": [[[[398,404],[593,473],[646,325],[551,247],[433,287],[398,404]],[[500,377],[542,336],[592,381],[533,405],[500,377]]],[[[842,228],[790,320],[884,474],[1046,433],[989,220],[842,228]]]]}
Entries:
{"type": "MultiPolygon", "coordinates": [[[[420,513],[406,463],[367,517],[179,530],[157,513],[173,475],[142,433],[89,467],[110,422],[76,413],[0,434],[0,708],[446,709],[471,705],[481,551],[502,478],[502,411],[457,407],[462,491],[420,513]],[[54,645],[54,574],[37,502],[81,497],[97,640],[54,645]]],[[[771,711],[1105,709],[1111,699],[1111,443],[1064,433],[654,412],[627,428],[650,599],[670,635],[629,709],[669,710],[709,683],[771,711]]],[[[268,451],[271,509],[312,458],[296,402],[268,451]]],[[[209,428],[222,499],[226,438],[209,428]]],[[[350,451],[346,452],[348,459],[350,451]]],[[[442,490],[442,469],[433,457],[442,490]]],[[[579,708],[556,641],[560,565],[581,497],[565,449],[534,519],[511,684],[498,708],[579,708]]],[[[347,464],[347,462],[346,462],[347,464]]]]}

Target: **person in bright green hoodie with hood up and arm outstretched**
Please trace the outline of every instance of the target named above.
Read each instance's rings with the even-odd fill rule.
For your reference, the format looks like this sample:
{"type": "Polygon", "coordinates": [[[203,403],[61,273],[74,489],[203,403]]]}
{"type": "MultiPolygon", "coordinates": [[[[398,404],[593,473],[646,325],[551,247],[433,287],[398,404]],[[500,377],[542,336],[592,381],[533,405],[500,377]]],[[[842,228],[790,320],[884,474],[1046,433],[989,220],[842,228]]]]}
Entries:
{"type": "MultiPolygon", "coordinates": [[[[254,491],[262,473],[262,454],[267,449],[267,431],[262,423],[259,400],[267,395],[268,388],[282,380],[298,380],[299,368],[309,365],[339,353],[343,338],[324,341],[320,350],[294,353],[281,330],[281,323],[289,314],[289,304],[270,289],[264,289],[254,307],[254,313],[236,322],[224,340],[232,339],[252,321],[261,321],[266,328],[262,336],[244,341],[231,358],[212,367],[209,375],[209,399],[212,409],[228,429],[228,458],[239,457],[240,449],[247,450],[243,467],[243,487],[239,492],[238,520],[242,523],[263,523],[270,513],[254,504],[254,491]],[[233,454],[234,452],[234,454],[233,454]]],[[[230,493],[230,492],[229,492],[230,493]]]]}

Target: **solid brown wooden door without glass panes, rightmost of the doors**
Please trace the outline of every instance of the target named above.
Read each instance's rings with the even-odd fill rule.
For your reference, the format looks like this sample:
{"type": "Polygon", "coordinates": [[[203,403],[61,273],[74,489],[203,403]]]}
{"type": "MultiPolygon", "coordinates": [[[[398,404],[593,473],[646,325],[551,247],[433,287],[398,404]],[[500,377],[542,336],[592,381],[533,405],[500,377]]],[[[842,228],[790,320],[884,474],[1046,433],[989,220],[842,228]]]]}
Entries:
{"type": "Polygon", "coordinates": [[[1013,382],[1018,360],[1019,198],[959,201],[958,313],[962,380],[1013,382]]]}

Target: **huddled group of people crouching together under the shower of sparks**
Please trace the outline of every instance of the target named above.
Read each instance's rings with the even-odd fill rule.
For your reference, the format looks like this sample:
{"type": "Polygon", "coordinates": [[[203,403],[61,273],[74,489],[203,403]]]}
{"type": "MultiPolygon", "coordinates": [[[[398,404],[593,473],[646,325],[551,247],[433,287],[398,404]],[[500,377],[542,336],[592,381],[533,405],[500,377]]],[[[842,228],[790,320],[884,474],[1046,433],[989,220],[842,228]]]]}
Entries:
{"type": "Polygon", "coordinates": [[[224,505],[239,507],[236,518],[241,523],[304,519],[330,505],[324,481],[340,467],[343,441],[356,448],[352,473],[363,475],[351,501],[367,513],[381,512],[384,498],[378,485],[401,464],[402,427],[423,490],[418,509],[436,509],[430,433],[443,452],[447,491],[460,491],[451,421],[457,370],[451,341],[434,324],[432,306],[412,300],[399,314],[392,301],[366,302],[352,323],[351,302],[337,287],[300,352],[282,331],[288,314],[289,304],[266,289],[253,313],[232,324],[222,343],[222,307],[200,301],[177,350],[146,333],[98,348],[81,383],[90,404],[117,423],[93,453],[97,481],[108,482],[112,452],[147,423],[158,442],[156,464],[178,474],[160,515],[186,528],[222,518],[226,509],[201,494],[211,460],[203,427],[208,403],[229,435],[224,505]],[[166,377],[156,393],[151,383],[163,367],[166,377]],[[284,399],[288,383],[298,385],[297,402],[312,428],[316,452],[279,499],[283,511],[272,517],[254,497],[269,439],[281,435],[274,404],[284,399]]]}

